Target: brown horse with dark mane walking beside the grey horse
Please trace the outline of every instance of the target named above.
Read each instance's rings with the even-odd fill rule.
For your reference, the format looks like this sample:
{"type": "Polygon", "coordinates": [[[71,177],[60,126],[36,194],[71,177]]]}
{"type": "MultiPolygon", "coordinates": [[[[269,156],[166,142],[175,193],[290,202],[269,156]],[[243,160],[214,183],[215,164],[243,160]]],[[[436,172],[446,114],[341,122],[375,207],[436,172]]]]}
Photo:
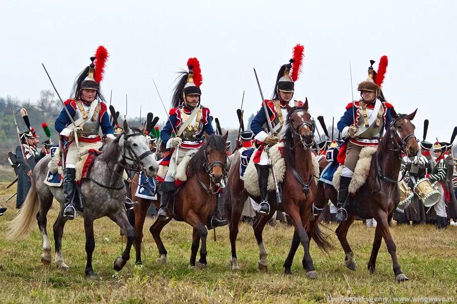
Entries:
{"type": "MultiPolygon", "coordinates": [[[[193,228],[190,266],[207,267],[206,239],[208,230],[206,229],[206,223],[208,216],[212,214],[216,207],[218,183],[226,174],[227,155],[225,153],[225,142],[227,137],[228,132],[224,136],[215,134],[209,136],[205,134],[205,143],[189,161],[187,181],[178,188],[175,194],[174,206],[170,208],[171,216],[168,219],[157,218],[149,228],[159,251],[158,262],[167,262],[168,252],[160,238],[160,232],[174,218],[185,221],[193,228]],[[202,242],[200,259],[195,262],[200,241],[202,242]]],[[[135,246],[138,254],[141,249],[141,243],[135,244],[135,246]]]]}

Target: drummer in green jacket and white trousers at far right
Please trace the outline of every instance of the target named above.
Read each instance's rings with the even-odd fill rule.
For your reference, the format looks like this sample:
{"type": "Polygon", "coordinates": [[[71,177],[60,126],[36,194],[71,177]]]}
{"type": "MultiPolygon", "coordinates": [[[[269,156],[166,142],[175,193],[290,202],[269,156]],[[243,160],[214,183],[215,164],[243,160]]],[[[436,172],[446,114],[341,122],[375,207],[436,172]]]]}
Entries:
{"type": "Polygon", "coordinates": [[[449,164],[444,158],[444,153],[446,151],[446,144],[435,142],[435,162],[436,165],[432,169],[432,173],[429,175],[430,182],[439,182],[438,191],[441,194],[440,200],[437,204],[434,205],[436,212],[436,227],[438,229],[443,229],[447,225],[447,213],[446,213],[446,204],[445,202],[449,201],[449,188],[447,184],[447,174],[449,171],[449,164]]]}

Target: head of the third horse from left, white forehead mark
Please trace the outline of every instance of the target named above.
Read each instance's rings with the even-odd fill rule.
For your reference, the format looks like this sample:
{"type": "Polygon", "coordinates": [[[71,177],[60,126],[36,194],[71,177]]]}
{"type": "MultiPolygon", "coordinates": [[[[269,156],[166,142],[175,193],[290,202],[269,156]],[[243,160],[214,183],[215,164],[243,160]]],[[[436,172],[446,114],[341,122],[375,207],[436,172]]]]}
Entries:
{"type": "Polygon", "coordinates": [[[303,143],[305,149],[312,146],[314,141],[314,130],[315,127],[311,121],[311,115],[308,112],[308,100],[302,106],[287,107],[287,125],[290,128],[293,138],[293,145],[296,146],[299,143],[303,143]],[[298,142],[295,138],[299,137],[298,142]]]}

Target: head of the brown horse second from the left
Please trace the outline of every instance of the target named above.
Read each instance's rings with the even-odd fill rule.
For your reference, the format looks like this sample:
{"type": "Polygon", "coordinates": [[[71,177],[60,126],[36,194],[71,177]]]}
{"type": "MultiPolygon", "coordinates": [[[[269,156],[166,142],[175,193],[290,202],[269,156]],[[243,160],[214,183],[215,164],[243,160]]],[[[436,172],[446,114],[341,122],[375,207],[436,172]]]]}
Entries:
{"type": "Polygon", "coordinates": [[[228,132],[224,136],[208,135],[205,133],[205,168],[210,174],[212,180],[216,183],[222,180],[226,172],[227,154],[225,151],[225,142],[227,141],[228,132]]]}

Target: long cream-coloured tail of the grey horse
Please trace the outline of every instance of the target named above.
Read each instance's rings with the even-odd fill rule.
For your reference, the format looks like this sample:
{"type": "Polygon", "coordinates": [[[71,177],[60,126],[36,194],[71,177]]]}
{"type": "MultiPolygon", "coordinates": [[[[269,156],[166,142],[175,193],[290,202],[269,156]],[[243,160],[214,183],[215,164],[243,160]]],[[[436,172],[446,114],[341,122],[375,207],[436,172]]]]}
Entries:
{"type": "Polygon", "coordinates": [[[7,232],[7,240],[16,241],[27,237],[36,225],[36,215],[40,200],[38,199],[37,187],[35,181],[30,178],[30,190],[25,198],[22,208],[19,213],[9,223],[9,230],[7,232]]]}

